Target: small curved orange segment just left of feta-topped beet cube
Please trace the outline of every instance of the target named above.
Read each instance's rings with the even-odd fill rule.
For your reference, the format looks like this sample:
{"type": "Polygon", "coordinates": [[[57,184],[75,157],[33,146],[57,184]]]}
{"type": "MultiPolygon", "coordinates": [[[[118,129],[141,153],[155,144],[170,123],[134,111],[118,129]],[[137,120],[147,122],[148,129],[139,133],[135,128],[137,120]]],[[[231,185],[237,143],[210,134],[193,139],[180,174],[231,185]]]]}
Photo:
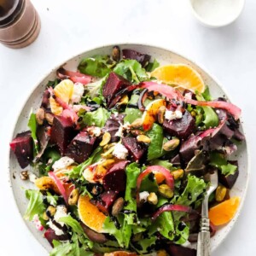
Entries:
{"type": "Polygon", "coordinates": [[[143,130],[148,131],[154,125],[156,115],[160,107],[166,106],[166,101],[163,99],[155,100],[148,104],[146,110],[143,113],[143,130]]]}

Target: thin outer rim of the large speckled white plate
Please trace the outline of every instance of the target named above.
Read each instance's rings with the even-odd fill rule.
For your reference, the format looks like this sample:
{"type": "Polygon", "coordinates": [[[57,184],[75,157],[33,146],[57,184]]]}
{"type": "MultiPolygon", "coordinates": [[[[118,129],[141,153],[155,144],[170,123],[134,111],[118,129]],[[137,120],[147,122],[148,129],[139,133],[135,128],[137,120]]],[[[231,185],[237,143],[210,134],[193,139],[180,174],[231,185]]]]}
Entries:
{"type": "MultiPolygon", "coordinates": [[[[55,71],[58,67],[61,67],[63,65],[65,65],[68,61],[71,61],[73,60],[74,58],[76,57],[79,57],[80,55],[84,55],[85,53],[89,52],[89,51],[93,51],[93,50],[97,50],[97,49],[102,49],[102,48],[107,48],[107,47],[113,47],[115,45],[119,45],[119,46],[129,46],[129,45],[137,45],[137,46],[141,46],[141,47],[149,47],[149,48],[155,48],[155,49],[161,49],[161,50],[165,50],[165,51],[168,51],[174,55],[177,55],[179,57],[182,57],[183,59],[193,63],[193,65],[195,65],[196,67],[199,67],[204,73],[207,73],[207,75],[218,85],[218,87],[224,91],[224,95],[225,97],[230,101],[232,102],[230,99],[232,98],[232,96],[230,97],[229,94],[227,94],[224,86],[222,83],[220,83],[220,81],[216,78],[215,75],[212,75],[212,73],[210,73],[208,71],[208,69],[204,66],[204,65],[201,65],[200,62],[197,62],[197,61],[194,61],[194,60],[191,60],[189,57],[187,57],[186,55],[183,55],[183,54],[180,54],[179,52],[175,51],[175,50],[172,50],[171,48],[166,48],[166,47],[163,47],[163,46],[160,46],[160,45],[156,45],[156,44],[147,44],[147,43],[134,43],[134,42],[117,42],[115,44],[95,44],[96,46],[94,47],[87,47],[85,48],[84,50],[79,50],[77,54],[73,54],[72,56],[68,57],[65,59],[65,61],[59,61],[59,63],[57,65],[55,65],[54,67],[50,67],[49,69],[47,69],[47,71],[40,76],[39,79],[37,79],[36,83],[34,83],[34,85],[32,86],[32,88],[29,90],[29,93],[27,94],[27,96],[25,97],[24,101],[21,102],[20,106],[19,107],[19,111],[17,112],[16,114],[16,118],[14,119],[13,122],[11,122],[11,130],[10,130],[10,133],[9,133],[9,142],[11,142],[11,140],[13,139],[13,137],[15,136],[15,126],[17,124],[17,121],[20,117],[20,113],[22,113],[22,110],[23,108],[25,108],[26,106],[26,102],[29,100],[30,96],[32,96],[32,93],[37,90],[38,86],[40,84],[42,84],[42,82],[44,81],[44,79],[46,79],[47,76],[49,76],[50,73],[52,73],[53,71],[55,71]]],[[[230,236],[230,231],[234,229],[234,226],[236,224],[236,221],[237,219],[239,218],[239,216],[241,215],[241,211],[243,210],[243,206],[244,206],[244,201],[247,197],[247,189],[248,189],[248,184],[249,184],[249,180],[250,180],[250,177],[251,177],[251,156],[250,156],[250,143],[248,143],[248,140],[247,140],[247,123],[243,120],[242,118],[242,115],[240,117],[240,121],[241,121],[241,127],[242,127],[242,131],[244,133],[244,136],[245,136],[245,141],[244,143],[246,143],[246,149],[247,149],[247,179],[246,179],[246,183],[245,183],[245,188],[244,188],[244,192],[243,192],[243,196],[241,197],[241,201],[240,201],[240,205],[239,205],[239,208],[238,208],[238,212],[236,212],[236,215],[234,216],[234,218],[232,218],[232,221],[233,221],[233,224],[230,226],[230,229],[227,230],[224,238],[219,241],[218,243],[218,246],[217,247],[213,247],[212,248],[212,252],[214,252],[218,247],[220,247],[222,245],[222,243],[224,242],[224,240],[227,239],[228,236],[230,236]]],[[[36,238],[36,236],[33,235],[32,233],[32,230],[29,229],[28,225],[26,224],[26,220],[23,218],[21,212],[20,212],[20,209],[18,207],[18,203],[15,199],[15,193],[14,193],[14,189],[12,187],[12,175],[11,175],[11,172],[10,172],[10,154],[11,154],[11,149],[9,148],[8,151],[8,161],[7,161],[7,172],[8,172],[8,182],[9,182],[9,186],[10,186],[10,189],[11,189],[11,196],[13,198],[13,200],[15,201],[15,207],[17,208],[17,212],[19,212],[19,218],[21,220],[21,222],[24,224],[24,226],[26,226],[26,230],[29,230],[29,234],[30,236],[33,237],[33,239],[35,241],[38,242],[38,244],[41,246],[41,247],[44,247],[44,245],[38,241],[38,239],[36,238]]],[[[48,253],[48,250],[46,249],[46,247],[44,247],[44,250],[48,253]]]]}

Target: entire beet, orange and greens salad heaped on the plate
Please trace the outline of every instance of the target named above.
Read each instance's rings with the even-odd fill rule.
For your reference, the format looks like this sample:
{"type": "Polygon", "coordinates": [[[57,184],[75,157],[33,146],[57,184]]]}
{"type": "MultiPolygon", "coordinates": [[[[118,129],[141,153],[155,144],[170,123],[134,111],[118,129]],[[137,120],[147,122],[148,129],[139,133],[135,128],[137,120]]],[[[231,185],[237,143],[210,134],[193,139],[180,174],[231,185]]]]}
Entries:
{"type": "Polygon", "coordinates": [[[20,177],[35,184],[24,218],[51,256],[195,255],[205,175],[218,169],[212,236],[239,205],[229,192],[240,114],[192,67],[133,49],[60,67],[10,143],[20,177]]]}

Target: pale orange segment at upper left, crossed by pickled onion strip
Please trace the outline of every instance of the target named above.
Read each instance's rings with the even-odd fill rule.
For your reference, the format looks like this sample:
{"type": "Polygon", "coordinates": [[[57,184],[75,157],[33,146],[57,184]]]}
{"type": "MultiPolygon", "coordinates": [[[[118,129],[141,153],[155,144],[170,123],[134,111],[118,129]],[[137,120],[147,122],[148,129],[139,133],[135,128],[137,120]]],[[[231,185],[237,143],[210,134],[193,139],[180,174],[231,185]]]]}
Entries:
{"type": "MultiPolygon", "coordinates": [[[[69,79],[62,80],[60,84],[55,86],[54,92],[55,96],[68,104],[73,95],[73,82],[69,79]]],[[[55,99],[52,96],[49,98],[49,106],[52,113],[61,115],[63,108],[59,103],[55,102],[55,99]]]]}

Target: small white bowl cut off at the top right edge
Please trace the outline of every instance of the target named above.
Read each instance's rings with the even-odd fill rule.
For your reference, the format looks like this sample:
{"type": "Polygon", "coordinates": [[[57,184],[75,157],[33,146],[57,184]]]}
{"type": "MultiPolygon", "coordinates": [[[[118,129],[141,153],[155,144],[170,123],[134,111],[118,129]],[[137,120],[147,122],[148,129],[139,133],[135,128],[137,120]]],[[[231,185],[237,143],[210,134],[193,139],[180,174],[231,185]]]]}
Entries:
{"type": "Polygon", "coordinates": [[[227,26],[244,8],[245,0],[189,0],[195,18],[208,27],[227,26]]]}

